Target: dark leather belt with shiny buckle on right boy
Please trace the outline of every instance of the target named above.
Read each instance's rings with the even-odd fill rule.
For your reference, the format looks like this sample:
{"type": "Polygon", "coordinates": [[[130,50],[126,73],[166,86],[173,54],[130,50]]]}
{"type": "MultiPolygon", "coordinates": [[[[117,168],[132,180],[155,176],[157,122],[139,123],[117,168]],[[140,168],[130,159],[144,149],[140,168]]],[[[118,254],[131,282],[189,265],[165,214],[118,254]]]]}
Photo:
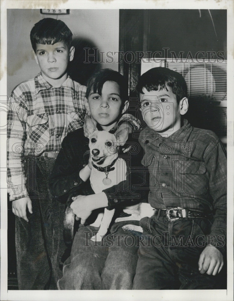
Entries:
{"type": "Polygon", "coordinates": [[[154,214],[156,216],[166,216],[168,222],[174,222],[179,218],[196,218],[209,219],[211,214],[205,214],[203,212],[195,211],[188,208],[169,207],[168,209],[155,209],[154,214]]]}

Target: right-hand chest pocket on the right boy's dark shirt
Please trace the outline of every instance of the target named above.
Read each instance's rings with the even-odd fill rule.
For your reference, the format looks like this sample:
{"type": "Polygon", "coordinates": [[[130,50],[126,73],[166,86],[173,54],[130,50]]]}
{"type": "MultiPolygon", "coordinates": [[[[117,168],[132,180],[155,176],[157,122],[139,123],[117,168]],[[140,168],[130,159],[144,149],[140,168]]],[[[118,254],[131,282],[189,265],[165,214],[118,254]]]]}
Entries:
{"type": "Polygon", "coordinates": [[[209,183],[204,162],[189,159],[182,161],[179,165],[179,173],[187,194],[207,194],[209,183]]]}

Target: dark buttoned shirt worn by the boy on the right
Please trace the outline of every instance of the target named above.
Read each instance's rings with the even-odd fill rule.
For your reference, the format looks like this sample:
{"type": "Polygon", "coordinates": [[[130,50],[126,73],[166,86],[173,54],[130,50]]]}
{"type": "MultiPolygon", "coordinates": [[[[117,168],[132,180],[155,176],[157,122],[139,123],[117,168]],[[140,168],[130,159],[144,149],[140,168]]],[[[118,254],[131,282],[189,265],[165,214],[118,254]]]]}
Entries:
{"type": "Polygon", "coordinates": [[[214,132],[193,128],[187,120],[169,137],[150,128],[139,137],[150,174],[149,203],[213,213],[210,235],[226,237],[226,155],[214,132]]]}

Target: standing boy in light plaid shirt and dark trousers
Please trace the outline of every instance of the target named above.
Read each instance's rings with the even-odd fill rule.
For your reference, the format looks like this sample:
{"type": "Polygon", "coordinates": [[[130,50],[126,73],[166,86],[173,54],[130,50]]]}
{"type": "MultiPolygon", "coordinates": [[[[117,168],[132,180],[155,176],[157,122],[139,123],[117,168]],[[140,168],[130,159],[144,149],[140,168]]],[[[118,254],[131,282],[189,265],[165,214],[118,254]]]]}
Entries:
{"type": "MultiPolygon", "coordinates": [[[[57,289],[59,259],[66,248],[64,204],[52,198],[48,179],[63,138],[83,126],[86,87],[67,75],[75,49],[65,23],[40,20],[30,39],[41,72],[13,90],[8,110],[8,192],[16,215],[17,278],[20,290],[57,289]]],[[[129,114],[123,121],[138,127],[129,114]]]]}

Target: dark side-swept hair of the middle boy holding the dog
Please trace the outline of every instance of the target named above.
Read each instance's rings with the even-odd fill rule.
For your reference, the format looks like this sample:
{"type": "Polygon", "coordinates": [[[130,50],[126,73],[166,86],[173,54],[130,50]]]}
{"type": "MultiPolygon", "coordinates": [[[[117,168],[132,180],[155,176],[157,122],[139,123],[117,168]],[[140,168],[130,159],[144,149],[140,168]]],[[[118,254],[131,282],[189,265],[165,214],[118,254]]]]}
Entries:
{"type": "Polygon", "coordinates": [[[107,81],[116,82],[119,85],[120,98],[122,100],[122,104],[124,104],[124,102],[128,100],[128,85],[126,80],[119,72],[108,68],[94,73],[89,78],[87,83],[86,98],[88,98],[92,89],[94,93],[97,92],[99,95],[101,95],[102,87],[107,81]]]}

